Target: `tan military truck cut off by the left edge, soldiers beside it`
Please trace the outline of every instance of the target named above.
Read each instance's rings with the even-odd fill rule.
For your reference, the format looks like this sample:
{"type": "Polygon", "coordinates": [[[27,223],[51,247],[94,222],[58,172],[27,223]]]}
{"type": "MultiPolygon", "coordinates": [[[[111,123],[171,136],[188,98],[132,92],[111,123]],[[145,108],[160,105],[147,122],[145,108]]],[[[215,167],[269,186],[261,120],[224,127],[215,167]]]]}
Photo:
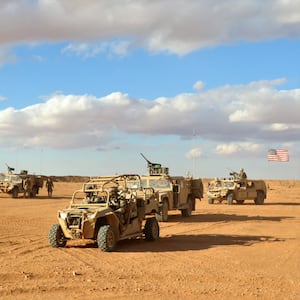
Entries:
{"type": "Polygon", "coordinates": [[[0,192],[10,194],[12,198],[18,198],[18,194],[25,193],[25,182],[29,180],[29,196],[34,198],[39,189],[43,187],[44,180],[41,176],[28,174],[27,170],[22,170],[20,174],[12,173],[13,168],[8,167],[8,173],[0,176],[0,192]]]}

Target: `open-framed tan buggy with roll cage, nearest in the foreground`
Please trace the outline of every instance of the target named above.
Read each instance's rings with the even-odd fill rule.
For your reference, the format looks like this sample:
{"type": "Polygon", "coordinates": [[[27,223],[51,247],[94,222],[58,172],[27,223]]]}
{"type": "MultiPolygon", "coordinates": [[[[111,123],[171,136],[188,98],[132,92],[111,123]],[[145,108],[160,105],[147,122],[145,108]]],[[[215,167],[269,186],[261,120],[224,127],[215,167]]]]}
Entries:
{"type": "Polygon", "coordinates": [[[159,238],[158,195],[141,187],[136,174],[91,178],[75,191],[68,208],[58,211],[58,224],[49,232],[52,247],[68,239],[91,239],[100,250],[113,251],[120,240],[159,238]]]}

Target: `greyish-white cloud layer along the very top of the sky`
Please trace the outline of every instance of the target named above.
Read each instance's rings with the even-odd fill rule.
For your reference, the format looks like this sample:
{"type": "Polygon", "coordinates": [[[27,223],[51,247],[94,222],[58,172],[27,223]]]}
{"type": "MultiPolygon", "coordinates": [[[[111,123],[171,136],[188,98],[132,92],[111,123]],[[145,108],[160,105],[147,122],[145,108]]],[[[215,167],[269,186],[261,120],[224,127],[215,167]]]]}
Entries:
{"type": "MultiPolygon", "coordinates": [[[[121,38],[111,46],[124,55],[129,44],[184,55],[235,41],[299,38],[299,1],[236,0],[39,0],[1,1],[0,43],[74,41],[89,44],[121,38]],[[38,26],[36,25],[38,24],[38,26]],[[238,24],[238,26],[237,26],[238,24]],[[126,42],[130,37],[130,43],[126,42]]],[[[101,49],[101,47],[100,47],[101,49]]],[[[69,49],[71,50],[71,49],[69,49]]]]}

